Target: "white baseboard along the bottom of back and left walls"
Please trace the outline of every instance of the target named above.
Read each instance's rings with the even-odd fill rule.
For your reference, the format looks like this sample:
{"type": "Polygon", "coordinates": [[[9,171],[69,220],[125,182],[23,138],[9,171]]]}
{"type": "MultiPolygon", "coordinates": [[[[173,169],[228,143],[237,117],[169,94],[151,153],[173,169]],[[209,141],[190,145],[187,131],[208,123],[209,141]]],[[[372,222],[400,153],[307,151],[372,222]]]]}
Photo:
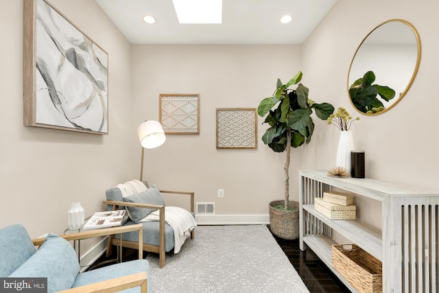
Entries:
{"type": "MultiPolygon", "coordinates": [[[[197,224],[202,225],[262,225],[270,224],[269,215],[195,215],[197,224]]],[[[196,229],[195,229],[196,231],[196,229]]],[[[91,266],[107,249],[108,237],[97,243],[91,250],[81,253],[81,272],[91,266]]]]}

